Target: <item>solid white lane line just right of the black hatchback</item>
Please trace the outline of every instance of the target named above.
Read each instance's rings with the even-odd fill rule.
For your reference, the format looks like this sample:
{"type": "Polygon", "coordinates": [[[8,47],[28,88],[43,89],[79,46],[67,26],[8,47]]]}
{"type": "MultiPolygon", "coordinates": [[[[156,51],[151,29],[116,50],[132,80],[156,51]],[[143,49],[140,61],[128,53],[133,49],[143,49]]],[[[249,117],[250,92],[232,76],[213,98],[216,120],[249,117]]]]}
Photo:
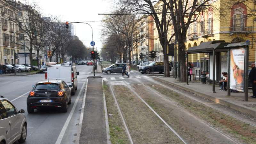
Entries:
{"type": "Polygon", "coordinates": [[[61,141],[62,141],[62,139],[63,139],[63,137],[64,137],[64,134],[65,134],[65,132],[66,132],[66,130],[67,130],[67,128],[68,128],[68,124],[69,124],[69,122],[70,122],[70,120],[71,120],[71,118],[72,118],[72,116],[73,116],[73,114],[74,114],[74,112],[75,112],[75,109],[76,109],[76,105],[77,105],[77,103],[78,103],[78,100],[79,100],[79,98],[80,98],[80,96],[81,96],[81,93],[82,93],[82,91],[83,91],[83,89],[84,89],[84,85],[85,85],[85,82],[84,82],[82,88],[80,89],[79,94],[77,95],[76,102],[74,103],[74,105],[73,105],[73,107],[72,107],[72,110],[70,111],[70,113],[69,113],[69,115],[68,115],[68,118],[67,118],[65,124],[63,125],[63,127],[62,127],[62,129],[61,129],[61,131],[60,131],[60,135],[58,136],[58,138],[57,138],[55,144],[61,144],[61,141]]]}

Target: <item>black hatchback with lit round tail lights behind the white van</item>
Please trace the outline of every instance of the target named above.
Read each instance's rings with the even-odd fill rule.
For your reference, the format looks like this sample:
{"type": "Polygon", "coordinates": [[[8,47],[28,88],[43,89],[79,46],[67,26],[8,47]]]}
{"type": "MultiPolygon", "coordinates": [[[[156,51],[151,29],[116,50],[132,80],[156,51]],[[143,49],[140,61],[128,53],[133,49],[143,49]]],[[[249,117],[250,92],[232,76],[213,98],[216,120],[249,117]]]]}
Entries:
{"type": "Polygon", "coordinates": [[[38,81],[27,98],[28,113],[46,107],[60,108],[62,112],[67,112],[68,104],[71,104],[70,87],[63,80],[38,81]]]}

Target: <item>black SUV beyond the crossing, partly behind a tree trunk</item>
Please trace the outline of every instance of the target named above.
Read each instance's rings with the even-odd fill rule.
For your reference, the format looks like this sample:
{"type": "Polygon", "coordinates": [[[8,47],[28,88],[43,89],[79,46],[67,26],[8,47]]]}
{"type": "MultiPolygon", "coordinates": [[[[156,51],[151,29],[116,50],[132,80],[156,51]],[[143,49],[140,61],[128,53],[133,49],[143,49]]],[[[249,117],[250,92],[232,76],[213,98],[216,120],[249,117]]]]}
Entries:
{"type": "MultiPolygon", "coordinates": [[[[154,62],[150,63],[148,65],[145,66],[140,66],[139,68],[139,72],[144,74],[150,74],[151,72],[153,72],[153,68],[154,68],[154,72],[159,72],[159,73],[163,73],[164,72],[164,62],[154,62]]],[[[172,66],[169,64],[169,69],[170,71],[172,71],[172,66]]]]}

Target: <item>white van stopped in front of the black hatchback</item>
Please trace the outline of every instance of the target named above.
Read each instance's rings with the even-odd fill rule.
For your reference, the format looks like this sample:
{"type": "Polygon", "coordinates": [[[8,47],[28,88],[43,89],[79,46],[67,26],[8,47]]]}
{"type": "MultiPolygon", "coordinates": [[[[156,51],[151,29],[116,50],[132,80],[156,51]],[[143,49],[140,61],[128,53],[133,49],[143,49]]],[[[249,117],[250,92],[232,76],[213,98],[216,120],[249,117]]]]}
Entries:
{"type": "Polygon", "coordinates": [[[76,72],[75,64],[50,65],[45,72],[45,80],[63,80],[67,85],[72,85],[71,95],[75,95],[77,75],[79,75],[79,72],[76,72]]]}

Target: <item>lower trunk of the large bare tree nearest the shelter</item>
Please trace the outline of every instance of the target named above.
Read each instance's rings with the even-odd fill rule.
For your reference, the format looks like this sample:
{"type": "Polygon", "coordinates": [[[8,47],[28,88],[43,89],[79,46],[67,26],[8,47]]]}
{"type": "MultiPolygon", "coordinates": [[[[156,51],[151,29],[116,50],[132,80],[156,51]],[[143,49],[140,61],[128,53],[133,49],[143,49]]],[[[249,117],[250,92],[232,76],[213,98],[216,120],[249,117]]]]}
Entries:
{"type": "Polygon", "coordinates": [[[179,49],[178,49],[178,58],[180,63],[180,80],[182,82],[186,82],[187,77],[187,68],[186,68],[186,60],[185,60],[185,44],[184,42],[179,42],[179,49]]]}

